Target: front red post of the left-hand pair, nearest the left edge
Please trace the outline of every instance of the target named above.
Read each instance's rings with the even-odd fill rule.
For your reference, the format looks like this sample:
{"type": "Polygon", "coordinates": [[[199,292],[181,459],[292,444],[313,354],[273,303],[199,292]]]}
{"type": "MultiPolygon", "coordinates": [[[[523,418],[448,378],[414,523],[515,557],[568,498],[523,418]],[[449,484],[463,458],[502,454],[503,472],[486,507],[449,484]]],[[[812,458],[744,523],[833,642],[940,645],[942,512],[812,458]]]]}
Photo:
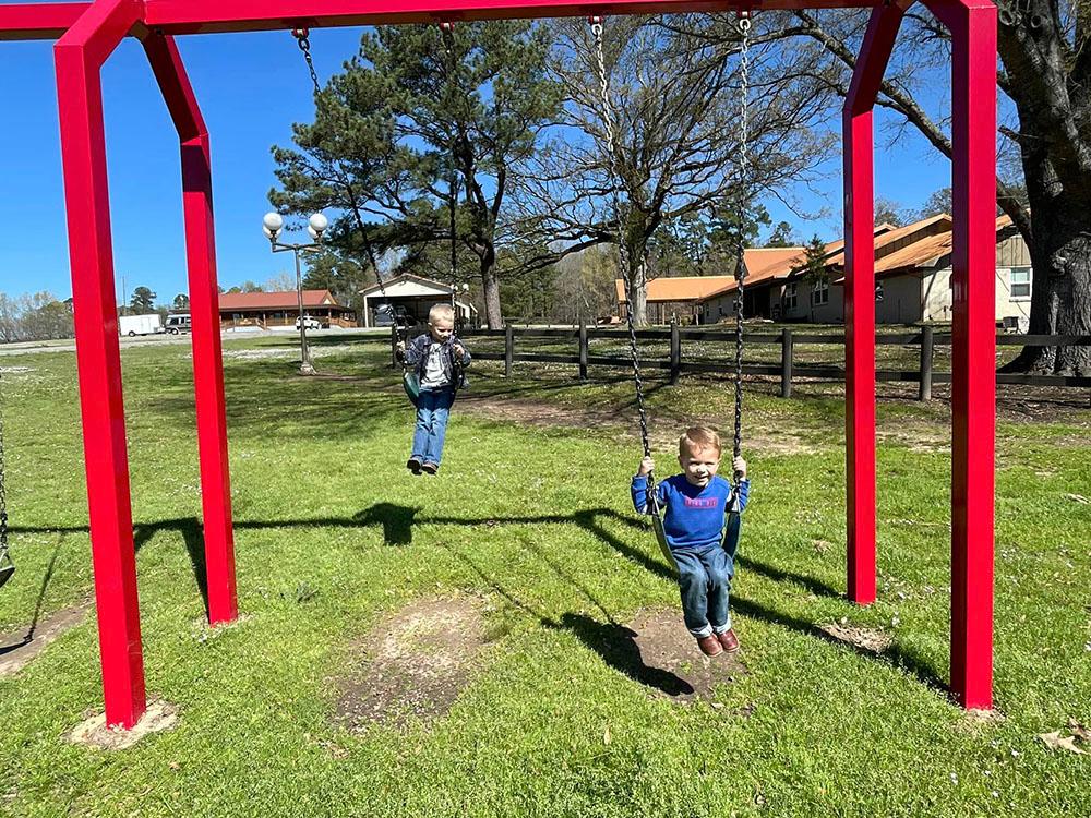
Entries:
{"type": "Polygon", "coordinates": [[[53,52],[103,690],[107,723],[125,727],[146,700],[99,69],[140,12],[132,0],[103,0],[53,52]]]}

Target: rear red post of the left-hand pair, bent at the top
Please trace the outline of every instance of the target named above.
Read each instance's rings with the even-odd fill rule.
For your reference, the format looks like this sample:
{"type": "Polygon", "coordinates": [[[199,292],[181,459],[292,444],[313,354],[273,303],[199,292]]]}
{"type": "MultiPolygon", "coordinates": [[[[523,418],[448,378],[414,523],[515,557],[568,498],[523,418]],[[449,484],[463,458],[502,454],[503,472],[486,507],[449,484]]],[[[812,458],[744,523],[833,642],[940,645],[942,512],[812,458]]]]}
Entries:
{"type": "Polygon", "coordinates": [[[217,625],[233,622],[239,615],[239,604],[235,578],[208,132],[173,40],[149,34],[144,38],[144,50],[181,142],[182,208],[193,327],[193,387],[201,458],[208,621],[217,625]]]}

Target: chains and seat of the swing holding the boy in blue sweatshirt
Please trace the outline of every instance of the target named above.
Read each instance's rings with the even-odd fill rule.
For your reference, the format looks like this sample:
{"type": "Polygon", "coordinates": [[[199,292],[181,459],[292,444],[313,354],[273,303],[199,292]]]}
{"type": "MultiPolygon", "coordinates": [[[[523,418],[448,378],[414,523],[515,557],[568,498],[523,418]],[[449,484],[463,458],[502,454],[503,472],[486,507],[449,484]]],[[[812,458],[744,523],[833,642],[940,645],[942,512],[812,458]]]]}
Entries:
{"type": "MultiPolygon", "coordinates": [[[[610,81],[607,75],[606,69],[606,57],[603,55],[602,48],[602,19],[601,17],[590,17],[591,23],[591,35],[595,41],[595,60],[596,60],[596,71],[599,81],[599,91],[601,92],[602,101],[602,121],[606,128],[607,134],[607,159],[609,163],[609,173],[610,173],[610,195],[611,195],[611,206],[614,212],[614,229],[618,231],[618,266],[621,269],[622,280],[624,282],[625,292],[631,292],[631,277],[630,277],[630,266],[628,266],[628,251],[625,248],[625,242],[623,240],[622,233],[622,218],[621,218],[621,196],[618,191],[618,179],[620,178],[620,163],[618,161],[618,142],[616,133],[614,130],[613,121],[613,105],[610,100],[610,81]]],[[[735,219],[736,219],[736,231],[735,231],[735,422],[734,422],[734,444],[733,444],[733,457],[739,457],[742,454],[742,418],[743,418],[743,380],[742,380],[742,360],[743,360],[743,282],[747,276],[746,270],[746,258],[743,248],[743,231],[742,231],[742,214],[743,210],[748,205],[748,188],[747,188],[747,167],[746,167],[746,154],[748,149],[748,121],[747,121],[747,97],[748,97],[748,47],[750,47],[750,29],[751,21],[747,12],[740,12],[739,15],[739,33],[741,39],[740,46],[740,73],[742,77],[741,82],[741,95],[740,95],[740,145],[738,153],[738,173],[739,173],[739,184],[736,189],[738,202],[735,207],[735,219]]],[[[628,328],[628,347],[630,347],[630,360],[633,365],[633,383],[636,390],[636,406],[637,412],[640,419],[640,444],[644,448],[644,456],[651,456],[651,446],[648,440],[648,417],[644,404],[644,382],[640,377],[640,357],[639,350],[636,344],[636,325],[633,323],[633,310],[626,310],[626,325],[628,328]]],[[[742,515],[739,509],[739,484],[741,474],[735,472],[732,476],[732,505],[728,509],[726,515],[726,521],[723,527],[723,549],[727,551],[728,555],[732,558],[735,557],[735,553],[739,550],[739,540],[742,533],[742,515]]],[[[674,562],[674,557],[671,554],[670,545],[667,541],[667,532],[663,529],[663,518],[662,513],[659,507],[659,500],[656,494],[656,484],[652,476],[648,474],[648,508],[651,515],[651,525],[656,532],[656,541],[659,543],[659,549],[662,551],[663,556],[667,562],[678,570],[678,565],[674,562]]]]}

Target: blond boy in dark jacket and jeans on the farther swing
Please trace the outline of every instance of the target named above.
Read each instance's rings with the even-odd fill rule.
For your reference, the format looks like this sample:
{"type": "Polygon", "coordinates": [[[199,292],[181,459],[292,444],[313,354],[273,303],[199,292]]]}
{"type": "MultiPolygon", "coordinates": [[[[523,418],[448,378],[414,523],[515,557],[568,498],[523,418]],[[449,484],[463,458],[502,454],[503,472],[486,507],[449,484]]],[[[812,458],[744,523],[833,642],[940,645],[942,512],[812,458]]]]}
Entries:
{"type": "Polygon", "coordinates": [[[408,346],[400,341],[398,352],[420,380],[417,429],[406,468],[413,474],[422,471],[434,474],[440,469],[455,392],[465,386],[463,370],[470,362],[470,353],[455,337],[454,308],[435,304],[428,312],[428,333],[417,336],[408,346]]]}

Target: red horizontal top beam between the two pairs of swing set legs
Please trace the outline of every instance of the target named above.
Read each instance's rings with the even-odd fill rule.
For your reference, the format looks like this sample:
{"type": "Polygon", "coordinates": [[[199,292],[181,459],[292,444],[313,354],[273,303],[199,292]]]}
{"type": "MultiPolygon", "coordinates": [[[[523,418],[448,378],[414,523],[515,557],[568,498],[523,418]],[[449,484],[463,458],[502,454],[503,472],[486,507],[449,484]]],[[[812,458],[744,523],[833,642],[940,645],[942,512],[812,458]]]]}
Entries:
{"type": "Polygon", "coordinates": [[[433,23],[439,20],[566,17],[590,14],[722,12],[743,8],[870,8],[875,0],[148,0],[148,26],[166,34],[253,32],[305,26],[433,23]]]}

